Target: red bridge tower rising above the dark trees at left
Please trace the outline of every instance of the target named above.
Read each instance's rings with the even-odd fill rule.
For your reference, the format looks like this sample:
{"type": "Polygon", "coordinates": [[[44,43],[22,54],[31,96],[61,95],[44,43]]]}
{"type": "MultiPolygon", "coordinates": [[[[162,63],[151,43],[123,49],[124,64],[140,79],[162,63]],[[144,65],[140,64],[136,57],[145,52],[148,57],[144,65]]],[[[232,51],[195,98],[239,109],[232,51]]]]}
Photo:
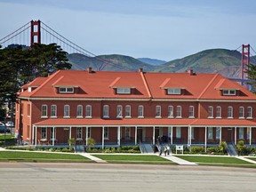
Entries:
{"type": "Polygon", "coordinates": [[[31,20],[30,23],[30,47],[32,48],[35,43],[41,44],[41,21],[31,20]]]}

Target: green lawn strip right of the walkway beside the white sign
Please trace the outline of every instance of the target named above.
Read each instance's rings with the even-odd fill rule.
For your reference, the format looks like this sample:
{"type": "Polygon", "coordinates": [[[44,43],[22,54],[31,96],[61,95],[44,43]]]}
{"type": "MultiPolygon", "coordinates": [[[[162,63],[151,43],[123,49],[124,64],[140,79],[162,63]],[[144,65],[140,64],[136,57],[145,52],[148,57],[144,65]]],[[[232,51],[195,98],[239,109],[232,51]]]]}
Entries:
{"type": "Polygon", "coordinates": [[[194,162],[201,165],[221,165],[221,166],[236,166],[236,167],[253,167],[252,164],[232,156],[177,156],[189,162],[194,162]]]}

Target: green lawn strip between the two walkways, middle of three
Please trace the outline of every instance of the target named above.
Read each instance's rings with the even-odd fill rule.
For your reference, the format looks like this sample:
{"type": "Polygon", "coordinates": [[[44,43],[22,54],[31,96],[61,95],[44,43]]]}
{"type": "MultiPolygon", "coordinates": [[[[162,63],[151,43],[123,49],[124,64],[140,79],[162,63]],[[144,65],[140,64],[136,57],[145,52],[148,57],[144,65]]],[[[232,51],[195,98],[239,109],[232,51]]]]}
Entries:
{"type": "Polygon", "coordinates": [[[93,155],[109,163],[122,164],[175,164],[160,156],[150,155],[93,155]]]}

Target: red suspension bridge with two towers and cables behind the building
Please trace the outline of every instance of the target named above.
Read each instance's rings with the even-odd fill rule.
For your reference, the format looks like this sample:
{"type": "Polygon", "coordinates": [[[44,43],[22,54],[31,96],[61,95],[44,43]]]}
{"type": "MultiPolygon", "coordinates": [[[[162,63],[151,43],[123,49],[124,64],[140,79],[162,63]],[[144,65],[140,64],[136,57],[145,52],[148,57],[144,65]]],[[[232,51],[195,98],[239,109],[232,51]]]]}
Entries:
{"type": "MultiPolygon", "coordinates": [[[[84,54],[87,57],[93,57],[94,59],[101,61],[102,64],[98,70],[103,70],[107,65],[112,65],[123,70],[132,70],[132,68],[121,66],[116,63],[112,63],[110,60],[97,57],[96,54],[85,50],[81,46],[68,40],[68,38],[61,36],[60,33],[47,26],[41,20],[31,20],[8,36],[4,36],[4,38],[0,39],[0,45],[2,48],[10,46],[10,44],[20,44],[32,48],[34,44],[52,43],[60,45],[61,49],[65,52],[84,54]]],[[[250,57],[252,56],[251,49],[252,52],[256,53],[250,44],[242,44],[236,49],[236,51],[242,53],[241,72],[239,78],[230,79],[240,82],[241,84],[250,81],[247,74],[244,72],[248,69],[248,65],[250,64],[250,57]]]]}

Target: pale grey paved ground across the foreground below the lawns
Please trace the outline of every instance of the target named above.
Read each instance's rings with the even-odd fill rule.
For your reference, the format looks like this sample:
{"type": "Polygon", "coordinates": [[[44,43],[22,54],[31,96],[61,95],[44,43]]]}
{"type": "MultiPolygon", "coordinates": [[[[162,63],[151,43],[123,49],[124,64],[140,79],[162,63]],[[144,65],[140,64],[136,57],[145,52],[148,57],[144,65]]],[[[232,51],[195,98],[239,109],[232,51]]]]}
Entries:
{"type": "Polygon", "coordinates": [[[250,192],[255,178],[255,169],[193,165],[0,163],[1,192],[250,192]]]}

